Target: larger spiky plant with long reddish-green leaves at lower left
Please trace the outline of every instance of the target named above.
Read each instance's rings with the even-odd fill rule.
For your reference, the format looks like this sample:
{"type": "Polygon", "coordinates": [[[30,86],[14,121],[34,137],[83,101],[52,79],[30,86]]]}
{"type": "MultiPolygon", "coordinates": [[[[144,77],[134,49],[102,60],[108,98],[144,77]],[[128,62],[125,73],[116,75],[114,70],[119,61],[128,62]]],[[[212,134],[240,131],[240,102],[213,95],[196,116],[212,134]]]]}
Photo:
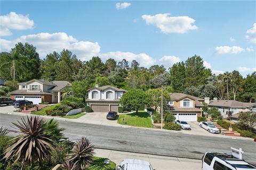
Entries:
{"type": "Polygon", "coordinates": [[[11,140],[11,146],[5,151],[4,159],[16,158],[22,161],[22,167],[25,163],[31,164],[35,160],[40,162],[51,155],[53,141],[50,135],[45,134],[44,121],[39,116],[27,116],[21,118],[22,122],[13,123],[18,130],[10,130],[20,133],[11,140]]]}

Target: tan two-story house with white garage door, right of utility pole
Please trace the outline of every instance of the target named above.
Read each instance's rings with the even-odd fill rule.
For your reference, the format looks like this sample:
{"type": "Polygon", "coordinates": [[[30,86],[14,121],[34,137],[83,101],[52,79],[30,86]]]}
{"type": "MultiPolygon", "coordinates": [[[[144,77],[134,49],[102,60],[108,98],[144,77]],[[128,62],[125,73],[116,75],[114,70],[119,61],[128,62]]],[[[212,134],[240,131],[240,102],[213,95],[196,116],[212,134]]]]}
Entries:
{"type": "Polygon", "coordinates": [[[204,99],[182,93],[171,93],[166,111],[171,111],[177,120],[197,121],[201,116],[204,99]]]}

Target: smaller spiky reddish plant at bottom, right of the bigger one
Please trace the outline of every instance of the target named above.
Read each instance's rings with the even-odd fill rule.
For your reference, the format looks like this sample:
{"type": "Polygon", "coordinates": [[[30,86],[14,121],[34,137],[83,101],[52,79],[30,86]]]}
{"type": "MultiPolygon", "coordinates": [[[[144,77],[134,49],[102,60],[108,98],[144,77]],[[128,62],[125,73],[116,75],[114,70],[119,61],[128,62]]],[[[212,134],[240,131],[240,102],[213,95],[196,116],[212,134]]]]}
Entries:
{"type": "Polygon", "coordinates": [[[74,163],[79,169],[85,169],[93,162],[94,146],[91,141],[82,137],[76,141],[75,146],[67,155],[67,160],[74,163]]]}

